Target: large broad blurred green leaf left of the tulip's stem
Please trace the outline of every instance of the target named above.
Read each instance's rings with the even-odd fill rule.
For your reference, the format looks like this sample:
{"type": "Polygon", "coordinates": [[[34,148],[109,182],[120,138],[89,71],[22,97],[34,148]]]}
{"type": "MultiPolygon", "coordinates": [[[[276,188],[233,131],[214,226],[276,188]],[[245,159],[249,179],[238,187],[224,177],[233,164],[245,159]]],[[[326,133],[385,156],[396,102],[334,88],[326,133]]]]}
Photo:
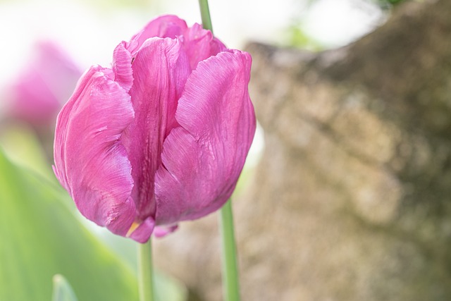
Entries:
{"type": "Polygon", "coordinates": [[[62,190],[0,149],[0,300],[51,300],[63,274],[82,301],[137,300],[128,266],[81,225],[62,190]]]}

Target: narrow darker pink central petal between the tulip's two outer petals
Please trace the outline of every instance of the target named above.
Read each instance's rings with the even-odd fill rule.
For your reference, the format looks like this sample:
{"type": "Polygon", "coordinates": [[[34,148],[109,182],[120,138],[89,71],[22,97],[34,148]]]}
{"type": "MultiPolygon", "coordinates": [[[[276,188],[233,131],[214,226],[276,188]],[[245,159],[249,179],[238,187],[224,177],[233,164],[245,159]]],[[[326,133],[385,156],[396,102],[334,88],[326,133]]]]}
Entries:
{"type": "Polygon", "coordinates": [[[132,63],[130,95],[135,120],[122,137],[135,182],[132,198],[137,223],[154,216],[154,176],[161,164],[163,141],[175,120],[177,100],[190,73],[187,56],[177,39],[148,39],[132,63]]]}

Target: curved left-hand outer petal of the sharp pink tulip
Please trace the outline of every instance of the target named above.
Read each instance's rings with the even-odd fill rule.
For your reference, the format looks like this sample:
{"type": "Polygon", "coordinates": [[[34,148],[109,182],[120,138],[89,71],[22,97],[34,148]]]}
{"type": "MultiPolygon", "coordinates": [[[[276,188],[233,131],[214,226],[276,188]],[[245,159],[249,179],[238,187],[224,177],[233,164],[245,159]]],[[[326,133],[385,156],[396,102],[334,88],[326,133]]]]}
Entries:
{"type": "Polygon", "coordinates": [[[131,166],[120,138],[133,119],[130,95],[99,66],[82,76],[58,115],[54,171],[80,212],[126,235],[135,219],[131,166]]]}

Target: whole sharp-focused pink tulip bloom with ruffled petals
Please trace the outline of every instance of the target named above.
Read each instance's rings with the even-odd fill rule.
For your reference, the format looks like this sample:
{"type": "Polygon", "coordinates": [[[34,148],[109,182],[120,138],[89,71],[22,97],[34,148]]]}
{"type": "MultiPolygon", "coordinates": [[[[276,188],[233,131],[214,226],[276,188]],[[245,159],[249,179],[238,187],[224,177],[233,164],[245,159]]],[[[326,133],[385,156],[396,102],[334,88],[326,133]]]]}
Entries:
{"type": "Polygon", "coordinates": [[[254,137],[250,68],[199,24],[162,16],[116,47],[112,68],[87,70],[54,143],[80,212],[145,242],[219,209],[254,137]]]}

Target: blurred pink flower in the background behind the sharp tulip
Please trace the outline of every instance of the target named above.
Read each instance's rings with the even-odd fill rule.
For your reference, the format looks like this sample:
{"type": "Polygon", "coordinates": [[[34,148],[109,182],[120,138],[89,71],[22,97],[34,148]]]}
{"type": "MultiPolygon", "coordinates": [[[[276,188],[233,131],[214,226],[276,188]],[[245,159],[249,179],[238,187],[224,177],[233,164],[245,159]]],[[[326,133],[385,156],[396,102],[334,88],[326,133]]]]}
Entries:
{"type": "Polygon", "coordinates": [[[34,125],[51,126],[82,71],[53,42],[39,42],[35,58],[11,87],[7,114],[34,125]]]}

